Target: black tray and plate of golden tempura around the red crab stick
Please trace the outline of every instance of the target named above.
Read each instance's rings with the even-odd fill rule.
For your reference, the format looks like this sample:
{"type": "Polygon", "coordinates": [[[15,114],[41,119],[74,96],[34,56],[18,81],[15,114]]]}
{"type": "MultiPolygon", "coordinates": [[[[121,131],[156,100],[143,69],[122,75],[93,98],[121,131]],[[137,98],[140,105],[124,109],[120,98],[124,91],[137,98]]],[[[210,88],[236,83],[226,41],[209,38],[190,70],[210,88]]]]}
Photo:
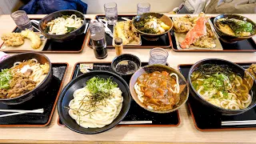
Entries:
{"type": "MultiPolygon", "coordinates": [[[[172,50],[177,52],[256,52],[256,43],[253,38],[238,41],[236,43],[226,43],[218,39],[214,32],[213,20],[214,18],[207,18],[204,14],[198,16],[186,15],[182,17],[173,17],[174,29],[170,31],[171,40],[173,43],[172,50]],[[197,24],[200,17],[205,17],[207,22],[205,24],[206,35],[197,38],[196,42],[190,46],[182,48],[182,42],[186,38],[186,34],[197,24]]],[[[200,24],[199,24],[200,25],[200,24]]],[[[199,28],[202,28],[199,26],[199,28]]],[[[186,43],[186,42],[184,42],[186,43]]],[[[183,44],[184,44],[183,43],[183,44]]]]}

